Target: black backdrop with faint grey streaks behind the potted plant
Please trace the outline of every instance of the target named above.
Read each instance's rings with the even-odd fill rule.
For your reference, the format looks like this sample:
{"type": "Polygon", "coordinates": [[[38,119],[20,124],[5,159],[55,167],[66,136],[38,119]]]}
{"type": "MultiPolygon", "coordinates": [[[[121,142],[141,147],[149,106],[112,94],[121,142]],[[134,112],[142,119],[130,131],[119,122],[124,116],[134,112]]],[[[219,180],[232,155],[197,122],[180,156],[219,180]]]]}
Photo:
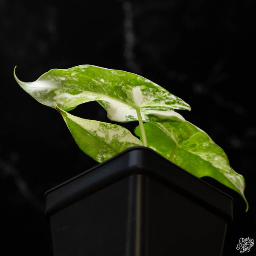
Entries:
{"type": "MultiPolygon", "coordinates": [[[[52,68],[93,64],[137,73],[191,105],[181,114],[225,150],[246,180],[247,213],[227,189],[234,221],[223,255],[240,255],[239,239],[256,239],[253,2],[0,0],[1,250],[52,255],[44,192],[96,164],[57,111],[18,86],[13,69],[20,80],[34,81],[52,68]]],[[[72,113],[107,121],[95,102],[72,113]]]]}

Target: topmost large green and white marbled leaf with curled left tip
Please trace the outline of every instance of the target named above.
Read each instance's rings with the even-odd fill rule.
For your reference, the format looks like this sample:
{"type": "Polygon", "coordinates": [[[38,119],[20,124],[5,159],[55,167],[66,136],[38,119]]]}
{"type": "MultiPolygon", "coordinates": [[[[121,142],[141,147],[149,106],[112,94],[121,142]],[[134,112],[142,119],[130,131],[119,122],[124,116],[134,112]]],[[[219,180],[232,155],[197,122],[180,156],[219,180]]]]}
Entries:
{"type": "Polygon", "coordinates": [[[174,110],[190,110],[182,99],[169,93],[154,82],[121,70],[111,70],[93,65],[69,69],[52,69],[34,82],[17,83],[33,98],[54,108],[69,111],[90,101],[98,101],[108,112],[108,118],[117,122],[179,121],[185,119],[174,110]]]}

